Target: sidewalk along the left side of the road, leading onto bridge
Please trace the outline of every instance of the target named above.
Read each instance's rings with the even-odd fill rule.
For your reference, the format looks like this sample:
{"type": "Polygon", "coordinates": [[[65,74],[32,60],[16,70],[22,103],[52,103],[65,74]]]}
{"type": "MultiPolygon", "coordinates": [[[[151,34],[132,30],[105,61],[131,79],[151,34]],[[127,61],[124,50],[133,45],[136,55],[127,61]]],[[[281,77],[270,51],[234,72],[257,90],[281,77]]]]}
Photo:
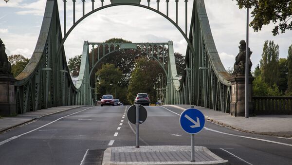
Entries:
{"type": "Polygon", "coordinates": [[[40,118],[40,117],[48,116],[48,115],[62,112],[65,110],[72,110],[72,109],[78,108],[78,107],[84,107],[84,106],[53,107],[53,108],[49,108],[49,109],[37,110],[37,111],[32,111],[32,112],[26,112],[23,114],[18,114],[15,117],[2,117],[2,118],[0,118],[0,133],[5,131],[5,130],[17,127],[19,125],[31,122],[33,120],[40,118]]]}

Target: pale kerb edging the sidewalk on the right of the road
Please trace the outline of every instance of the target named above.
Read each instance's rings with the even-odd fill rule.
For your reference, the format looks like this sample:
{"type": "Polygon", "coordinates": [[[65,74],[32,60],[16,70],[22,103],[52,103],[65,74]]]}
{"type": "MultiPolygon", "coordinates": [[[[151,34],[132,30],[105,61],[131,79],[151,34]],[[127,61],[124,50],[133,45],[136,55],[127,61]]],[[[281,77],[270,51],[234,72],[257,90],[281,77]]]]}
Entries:
{"type": "MultiPolygon", "coordinates": [[[[164,106],[169,106],[169,107],[174,107],[174,108],[177,108],[177,109],[180,109],[180,110],[185,110],[183,107],[176,106],[176,105],[164,105],[164,106]]],[[[217,124],[217,125],[222,126],[222,127],[225,127],[225,128],[238,130],[238,131],[241,131],[241,132],[254,133],[254,134],[259,134],[259,135],[268,135],[268,136],[278,136],[278,137],[288,137],[288,138],[291,138],[290,136],[286,136],[286,135],[284,135],[284,136],[277,135],[276,132],[274,132],[274,133],[256,132],[256,131],[252,131],[252,130],[237,128],[237,127],[234,127],[232,125],[228,125],[226,123],[223,123],[223,122],[217,121],[215,119],[212,119],[209,116],[206,116],[205,115],[205,117],[206,117],[206,120],[209,121],[209,122],[211,122],[211,123],[217,124]]]]}

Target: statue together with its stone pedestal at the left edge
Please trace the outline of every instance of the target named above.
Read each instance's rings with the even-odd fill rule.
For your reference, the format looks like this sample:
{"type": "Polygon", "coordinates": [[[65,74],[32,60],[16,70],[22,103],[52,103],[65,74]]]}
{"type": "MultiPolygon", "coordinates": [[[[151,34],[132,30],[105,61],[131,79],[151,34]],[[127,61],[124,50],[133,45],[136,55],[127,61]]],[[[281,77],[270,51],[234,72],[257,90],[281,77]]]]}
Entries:
{"type": "Polygon", "coordinates": [[[5,45],[0,39],[0,115],[16,115],[14,99],[15,78],[11,73],[11,64],[5,53],[5,45]]]}

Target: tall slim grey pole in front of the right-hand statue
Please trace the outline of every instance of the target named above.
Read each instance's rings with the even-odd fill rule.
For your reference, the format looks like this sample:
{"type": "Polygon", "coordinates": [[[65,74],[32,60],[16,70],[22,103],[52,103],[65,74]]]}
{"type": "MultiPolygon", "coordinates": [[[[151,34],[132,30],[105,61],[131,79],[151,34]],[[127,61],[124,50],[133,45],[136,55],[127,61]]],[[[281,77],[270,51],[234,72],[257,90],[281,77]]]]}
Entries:
{"type": "Polygon", "coordinates": [[[246,47],[245,47],[245,118],[249,117],[249,112],[248,112],[248,76],[249,76],[249,49],[248,49],[248,10],[249,8],[247,7],[246,9],[246,47]]]}

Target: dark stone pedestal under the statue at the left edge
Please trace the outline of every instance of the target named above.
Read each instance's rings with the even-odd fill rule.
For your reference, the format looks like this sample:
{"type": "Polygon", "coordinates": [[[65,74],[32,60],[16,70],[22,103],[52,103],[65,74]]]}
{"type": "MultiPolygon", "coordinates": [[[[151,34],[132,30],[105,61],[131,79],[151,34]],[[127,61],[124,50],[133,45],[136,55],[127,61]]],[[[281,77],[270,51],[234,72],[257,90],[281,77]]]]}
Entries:
{"type": "Polygon", "coordinates": [[[14,82],[16,79],[9,74],[0,74],[0,115],[17,115],[14,82]]]}

